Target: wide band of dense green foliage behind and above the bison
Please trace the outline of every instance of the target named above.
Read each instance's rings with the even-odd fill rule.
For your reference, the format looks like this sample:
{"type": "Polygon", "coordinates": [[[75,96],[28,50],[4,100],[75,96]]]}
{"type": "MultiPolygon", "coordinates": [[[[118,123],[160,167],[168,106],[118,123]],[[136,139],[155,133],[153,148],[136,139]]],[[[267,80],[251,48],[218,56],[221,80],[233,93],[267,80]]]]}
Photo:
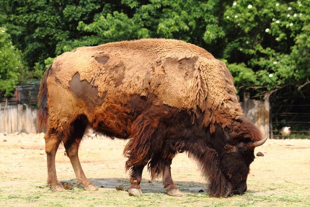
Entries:
{"type": "Polygon", "coordinates": [[[0,6],[0,23],[34,79],[65,51],[137,38],[205,48],[227,64],[240,94],[296,88],[310,76],[310,0],[0,0],[0,6]]]}

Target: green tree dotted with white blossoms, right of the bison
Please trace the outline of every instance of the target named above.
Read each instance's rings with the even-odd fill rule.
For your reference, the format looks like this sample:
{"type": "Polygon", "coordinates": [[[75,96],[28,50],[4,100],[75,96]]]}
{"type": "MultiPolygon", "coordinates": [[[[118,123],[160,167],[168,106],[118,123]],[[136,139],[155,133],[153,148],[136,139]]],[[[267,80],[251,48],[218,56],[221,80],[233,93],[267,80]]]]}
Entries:
{"type": "Polygon", "coordinates": [[[235,0],[226,7],[223,58],[241,91],[262,93],[307,81],[309,8],[309,0],[235,0]]]}

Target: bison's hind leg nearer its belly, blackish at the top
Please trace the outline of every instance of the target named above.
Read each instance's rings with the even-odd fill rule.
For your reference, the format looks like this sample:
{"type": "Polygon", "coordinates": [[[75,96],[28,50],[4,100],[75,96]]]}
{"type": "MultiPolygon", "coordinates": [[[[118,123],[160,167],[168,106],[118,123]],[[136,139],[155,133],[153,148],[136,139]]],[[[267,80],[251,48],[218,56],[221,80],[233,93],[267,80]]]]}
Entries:
{"type": "Polygon", "coordinates": [[[86,126],[88,124],[88,120],[86,116],[79,116],[71,125],[71,133],[67,139],[63,139],[63,145],[66,149],[67,156],[70,158],[75,176],[77,185],[83,185],[83,188],[88,191],[98,190],[97,187],[90,182],[82,169],[78,150],[80,142],[83,138],[86,126]]]}

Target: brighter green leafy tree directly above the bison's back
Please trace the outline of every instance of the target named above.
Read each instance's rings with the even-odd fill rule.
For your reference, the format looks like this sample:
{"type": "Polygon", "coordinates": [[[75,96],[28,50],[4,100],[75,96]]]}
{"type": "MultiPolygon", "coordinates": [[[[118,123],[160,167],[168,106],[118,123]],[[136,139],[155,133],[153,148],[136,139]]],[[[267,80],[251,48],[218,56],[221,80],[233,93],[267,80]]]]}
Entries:
{"type": "Polygon", "coordinates": [[[202,47],[216,45],[217,39],[225,35],[217,21],[220,8],[219,0],[121,0],[119,4],[106,3],[93,22],[79,22],[77,29],[84,36],[57,45],[57,55],[77,46],[139,38],[182,39],[202,47]]]}

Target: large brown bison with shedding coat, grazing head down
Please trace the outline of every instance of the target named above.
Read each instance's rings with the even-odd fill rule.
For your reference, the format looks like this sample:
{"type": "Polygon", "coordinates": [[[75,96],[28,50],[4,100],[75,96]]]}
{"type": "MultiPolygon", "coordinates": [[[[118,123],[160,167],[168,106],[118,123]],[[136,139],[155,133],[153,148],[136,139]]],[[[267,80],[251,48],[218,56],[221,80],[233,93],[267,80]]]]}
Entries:
{"type": "Polygon", "coordinates": [[[85,129],[129,141],[124,149],[131,195],[141,195],[142,171],[162,176],[170,196],[181,196],[170,165],[186,152],[199,162],[214,197],[242,194],[254,148],[264,143],[244,118],[231,73],[206,50],[179,40],[142,39],[81,47],[57,57],[39,92],[48,179],[57,181],[55,153],[63,142],[77,184],[85,176],[78,148],[85,129]]]}

